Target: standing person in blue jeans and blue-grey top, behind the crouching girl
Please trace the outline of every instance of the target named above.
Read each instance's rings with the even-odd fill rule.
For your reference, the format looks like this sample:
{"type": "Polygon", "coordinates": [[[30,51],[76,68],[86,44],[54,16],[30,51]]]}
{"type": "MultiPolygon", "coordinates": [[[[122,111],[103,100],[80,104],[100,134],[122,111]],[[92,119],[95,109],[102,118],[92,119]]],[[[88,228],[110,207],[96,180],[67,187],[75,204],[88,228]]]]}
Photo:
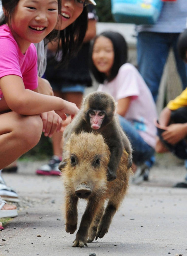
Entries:
{"type": "MultiPolygon", "coordinates": [[[[149,87],[156,102],[159,84],[169,51],[172,48],[176,66],[181,78],[182,89],[187,86],[187,65],[178,54],[177,41],[180,33],[186,27],[186,0],[164,2],[161,15],[154,25],[136,26],[137,35],[137,64],[138,70],[149,87]]],[[[154,156],[145,163],[151,167],[155,162],[154,156]]]]}

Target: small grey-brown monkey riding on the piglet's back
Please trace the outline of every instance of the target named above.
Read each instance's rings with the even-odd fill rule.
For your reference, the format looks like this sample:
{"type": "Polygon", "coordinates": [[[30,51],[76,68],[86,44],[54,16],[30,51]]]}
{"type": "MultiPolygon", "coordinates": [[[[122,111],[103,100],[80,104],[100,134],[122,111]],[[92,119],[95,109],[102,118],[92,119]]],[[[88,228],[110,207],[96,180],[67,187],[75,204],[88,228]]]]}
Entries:
{"type": "MultiPolygon", "coordinates": [[[[132,165],[132,147],[120,126],[115,115],[115,100],[108,93],[91,92],[83,100],[79,112],[63,133],[64,143],[74,132],[100,133],[110,150],[110,161],[107,170],[107,180],[116,178],[116,171],[121,160],[124,149],[128,153],[127,168],[132,165]]],[[[62,163],[63,163],[62,155],[62,163]]],[[[60,167],[59,167],[60,169],[60,167]]]]}

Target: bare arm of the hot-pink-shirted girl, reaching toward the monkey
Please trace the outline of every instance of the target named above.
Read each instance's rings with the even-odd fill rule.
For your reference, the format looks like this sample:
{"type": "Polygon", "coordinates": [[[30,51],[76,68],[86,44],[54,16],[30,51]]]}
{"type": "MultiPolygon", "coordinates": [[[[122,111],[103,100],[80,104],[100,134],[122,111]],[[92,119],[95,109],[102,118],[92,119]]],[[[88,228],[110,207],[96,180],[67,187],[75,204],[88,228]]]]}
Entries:
{"type": "Polygon", "coordinates": [[[2,77],[0,88],[9,108],[22,115],[35,115],[55,110],[64,119],[64,113],[74,115],[78,112],[74,103],[25,89],[23,80],[19,76],[2,77]]]}

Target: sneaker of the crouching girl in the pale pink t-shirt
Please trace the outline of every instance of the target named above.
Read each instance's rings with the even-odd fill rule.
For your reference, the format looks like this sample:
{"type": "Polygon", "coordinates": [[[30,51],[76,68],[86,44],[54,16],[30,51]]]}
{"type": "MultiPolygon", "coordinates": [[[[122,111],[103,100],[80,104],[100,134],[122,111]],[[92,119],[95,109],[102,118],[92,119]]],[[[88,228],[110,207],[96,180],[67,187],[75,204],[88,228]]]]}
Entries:
{"type": "Polygon", "coordinates": [[[132,182],[134,184],[140,184],[143,181],[147,181],[149,180],[149,167],[145,164],[143,164],[142,166],[139,166],[134,174],[134,177],[132,178],[132,182]]]}

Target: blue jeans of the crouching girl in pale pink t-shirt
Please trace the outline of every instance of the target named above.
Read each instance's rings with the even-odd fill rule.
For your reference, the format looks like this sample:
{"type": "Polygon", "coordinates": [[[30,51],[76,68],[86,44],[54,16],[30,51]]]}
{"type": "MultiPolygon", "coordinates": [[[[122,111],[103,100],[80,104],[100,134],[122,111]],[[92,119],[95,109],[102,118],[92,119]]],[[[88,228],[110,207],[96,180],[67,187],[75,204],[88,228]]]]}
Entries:
{"type": "Polygon", "coordinates": [[[154,148],[152,148],[143,140],[143,138],[139,135],[137,130],[132,126],[129,121],[127,121],[121,115],[118,115],[118,117],[122,129],[129,138],[132,145],[133,163],[135,163],[136,165],[143,164],[154,155],[154,148]]]}

